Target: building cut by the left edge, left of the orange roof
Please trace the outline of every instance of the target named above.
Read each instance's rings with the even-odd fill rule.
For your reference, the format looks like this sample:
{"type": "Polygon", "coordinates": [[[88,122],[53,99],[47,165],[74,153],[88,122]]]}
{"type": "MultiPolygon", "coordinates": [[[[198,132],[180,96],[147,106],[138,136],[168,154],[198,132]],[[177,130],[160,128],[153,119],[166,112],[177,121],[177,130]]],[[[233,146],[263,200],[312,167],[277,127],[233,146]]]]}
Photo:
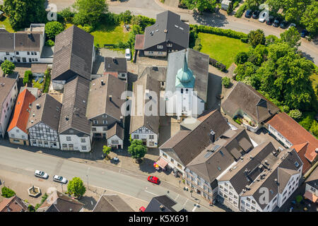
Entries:
{"type": "Polygon", "coordinates": [[[6,133],[17,96],[18,86],[16,79],[0,77],[0,134],[2,138],[4,138],[6,133]]]}

